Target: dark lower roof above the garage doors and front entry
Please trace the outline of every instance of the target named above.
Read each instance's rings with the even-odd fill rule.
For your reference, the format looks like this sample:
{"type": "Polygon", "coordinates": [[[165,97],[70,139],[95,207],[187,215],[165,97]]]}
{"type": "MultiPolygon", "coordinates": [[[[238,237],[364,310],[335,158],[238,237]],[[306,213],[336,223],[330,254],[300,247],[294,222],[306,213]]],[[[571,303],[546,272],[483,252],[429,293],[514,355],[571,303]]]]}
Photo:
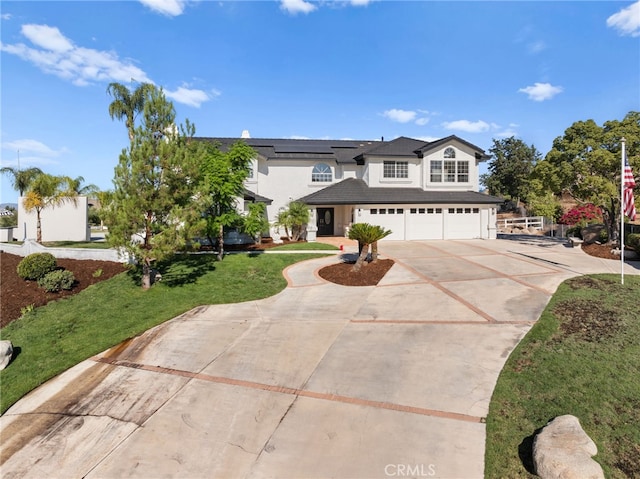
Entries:
{"type": "Polygon", "coordinates": [[[308,205],[353,204],[500,204],[502,199],[477,191],[425,191],[422,188],[370,188],[348,178],[299,199],[308,205]]]}

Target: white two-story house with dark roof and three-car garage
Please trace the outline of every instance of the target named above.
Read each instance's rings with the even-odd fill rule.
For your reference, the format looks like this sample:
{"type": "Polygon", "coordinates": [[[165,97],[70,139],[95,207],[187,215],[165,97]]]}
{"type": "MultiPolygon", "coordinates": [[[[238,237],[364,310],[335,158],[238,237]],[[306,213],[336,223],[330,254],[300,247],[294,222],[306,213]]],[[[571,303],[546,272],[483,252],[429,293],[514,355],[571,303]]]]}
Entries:
{"type": "MultiPolygon", "coordinates": [[[[240,138],[201,140],[224,149],[240,138]]],[[[502,200],[479,192],[479,164],[489,156],[457,136],[242,140],[257,153],[244,200],[265,202],[269,221],[292,200],[306,203],[310,241],[363,222],[390,229],[394,240],[496,237],[502,200]]]]}

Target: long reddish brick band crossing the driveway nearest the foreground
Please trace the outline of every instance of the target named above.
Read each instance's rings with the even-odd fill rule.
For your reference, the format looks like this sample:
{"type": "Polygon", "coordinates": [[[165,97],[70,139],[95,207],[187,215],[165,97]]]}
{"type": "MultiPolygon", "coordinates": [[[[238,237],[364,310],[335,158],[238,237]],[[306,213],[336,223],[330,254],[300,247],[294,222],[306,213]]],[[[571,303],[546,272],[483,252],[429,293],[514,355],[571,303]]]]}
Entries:
{"type": "Polygon", "coordinates": [[[227,384],[230,386],[239,386],[249,389],[257,389],[262,391],[275,392],[280,394],[288,394],[295,397],[307,397],[312,399],[320,399],[330,402],[339,402],[343,404],[354,404],[357,406],[368,406],[377,409],[387,409],[399,412],[408,412],[412,414],[418,414],[421,416],[440,417],[444,419],[453,419],[457,421],[472,422],[472,423],[484,423],[485,418],[478,416],[471,416],[468,414],[439,411],[437,409],[427,409],[416,406],[404,406],[401,404],[394,404],[385,401],[372,401],[369,399],[354,398],[349,396],[342,396],[340,394],[327,394],[316,391],[310,391],[307,389],[291,388],[287,386],[276,386],[271,384],[264,384],[255,381],[246,381],[244,379],[233,379],[224,376],[213,376],[210,374],[194,373],[191,371],[184,371],[181,369],[165,368],[162,366],[152,366],[147,364],[133,363],[130,361],[122,361],[112,358],[94,358],[96,362],[110,364],[116,367],[140,369],[143,371],[157,372],[161,374],[170,374],[175,376],[186,377],[190,379],[199,379],[202,381],[227,384]]]}

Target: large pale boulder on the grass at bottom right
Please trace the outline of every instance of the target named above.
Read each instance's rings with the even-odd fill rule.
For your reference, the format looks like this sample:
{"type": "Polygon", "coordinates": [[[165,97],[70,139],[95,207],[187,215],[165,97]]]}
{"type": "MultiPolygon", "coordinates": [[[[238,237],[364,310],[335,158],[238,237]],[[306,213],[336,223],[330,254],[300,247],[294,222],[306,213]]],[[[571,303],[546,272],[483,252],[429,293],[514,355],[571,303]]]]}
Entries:
{"type": "Polygon", "coordinates": [[[591,459],[598,448],[577,417],[558,416],[533,441],[533,464],[542,479],[604,479],[602,467],[591,459]]]}

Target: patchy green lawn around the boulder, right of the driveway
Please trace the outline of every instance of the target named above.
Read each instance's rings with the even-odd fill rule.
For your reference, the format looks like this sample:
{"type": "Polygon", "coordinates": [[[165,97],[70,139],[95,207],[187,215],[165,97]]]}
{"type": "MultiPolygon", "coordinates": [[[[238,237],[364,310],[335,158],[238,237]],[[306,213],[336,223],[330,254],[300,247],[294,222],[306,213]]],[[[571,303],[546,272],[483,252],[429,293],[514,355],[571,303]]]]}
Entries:
{"type": "Polygon", "coordinates": [[[640,477],[640,276],[573,278],[513,351],[487,417],[485,477],[534,478],[533,436],[572,414],[610,479],[640,477]]]}

